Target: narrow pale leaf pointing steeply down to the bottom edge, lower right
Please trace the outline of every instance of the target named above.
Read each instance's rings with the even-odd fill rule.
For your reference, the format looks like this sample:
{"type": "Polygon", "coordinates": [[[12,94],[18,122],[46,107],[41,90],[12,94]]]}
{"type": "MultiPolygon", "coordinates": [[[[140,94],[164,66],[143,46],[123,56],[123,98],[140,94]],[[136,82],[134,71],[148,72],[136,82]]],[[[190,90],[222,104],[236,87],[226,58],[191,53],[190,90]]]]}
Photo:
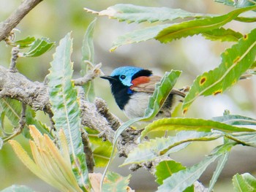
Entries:
{"type": "Polygon", "coordinates": [[[229,153],[227,152],[219,158],[217,168],[215,169],[214,175],[211,177],[211,181],[208,186],[208,190],[207,190],[208,192],[213,191],[214,185],[217,182],[219,174],[222,172],[222,169],[224,168],[224,166],[227,162],[228,155],[229,155],[229,153]]]}

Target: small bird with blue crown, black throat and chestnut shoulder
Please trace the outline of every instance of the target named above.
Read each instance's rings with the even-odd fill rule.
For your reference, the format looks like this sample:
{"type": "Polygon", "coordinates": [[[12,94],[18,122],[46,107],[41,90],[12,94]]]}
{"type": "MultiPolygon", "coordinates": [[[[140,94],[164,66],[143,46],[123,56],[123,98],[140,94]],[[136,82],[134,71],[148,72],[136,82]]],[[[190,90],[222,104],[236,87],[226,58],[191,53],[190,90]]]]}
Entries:
{"type": "MultiPolygon", "coordinates": [[[[110,75],[101,78],[110,82],[116,104],[129,119],[144,116],[149,96],[154,93],[155,84],[161,80],[161,77],[154,75],[151,70],[137,66],[120,66],[110,75]]],[[[173,88],[157,118],[170,118],[177,104],[186,96],[186,91],[187,88],[173,88]]]]}

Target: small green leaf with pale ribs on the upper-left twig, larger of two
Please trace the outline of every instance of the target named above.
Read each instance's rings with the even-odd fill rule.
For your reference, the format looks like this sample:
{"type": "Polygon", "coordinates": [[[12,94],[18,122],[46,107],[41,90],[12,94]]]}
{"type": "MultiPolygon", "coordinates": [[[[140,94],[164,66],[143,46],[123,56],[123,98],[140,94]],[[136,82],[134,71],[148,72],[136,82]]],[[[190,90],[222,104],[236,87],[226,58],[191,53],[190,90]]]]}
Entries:
{"type": "Polygon", "coordinates": [[[54,45],[54,42],[50,42],[48,38],[42,37],[41,39],[35,40],[30,49],[26,53],[23,53],[21,56],[38,57],[39,55],[42,55],[53,48],[54,45]]]}

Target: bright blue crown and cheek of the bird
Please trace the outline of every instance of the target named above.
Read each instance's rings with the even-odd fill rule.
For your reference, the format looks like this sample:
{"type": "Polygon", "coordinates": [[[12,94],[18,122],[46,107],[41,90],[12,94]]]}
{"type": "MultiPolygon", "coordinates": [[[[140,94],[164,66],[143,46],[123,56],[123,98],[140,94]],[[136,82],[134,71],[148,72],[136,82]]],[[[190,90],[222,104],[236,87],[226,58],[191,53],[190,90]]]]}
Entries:
{"type": "Polygon", "coordinates": [[[110,76],[111,77],[118,76],[119,80],[124,85],[131,86],[133,75],[140,72],[140,70],[143,70],[143,69],[137,66],[120,66],[114,69],[113,72],[110,74],[110,76]]]}

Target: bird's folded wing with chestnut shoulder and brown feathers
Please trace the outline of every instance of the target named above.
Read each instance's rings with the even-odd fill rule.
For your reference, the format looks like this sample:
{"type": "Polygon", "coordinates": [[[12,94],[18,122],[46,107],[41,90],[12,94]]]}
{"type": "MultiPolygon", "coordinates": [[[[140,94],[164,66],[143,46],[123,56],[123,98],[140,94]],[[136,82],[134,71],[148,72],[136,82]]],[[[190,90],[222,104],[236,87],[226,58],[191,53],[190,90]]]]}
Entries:
{"type": "MultiPolygon", "coordinates": [[[[149,77],[146,76],[140,76],[132,80],[132,86],[130,89],[132,91],[138,91],[138,92],[145,92],[145,93],[154,93],[155,85],[157,82],[161,80],[161,77],[151,75],[149,77]]],[[[178,96],[185,97],[188,90],[183,89],[176,89],[173,88],[170,93],[176,94],[178,96]]]]}

